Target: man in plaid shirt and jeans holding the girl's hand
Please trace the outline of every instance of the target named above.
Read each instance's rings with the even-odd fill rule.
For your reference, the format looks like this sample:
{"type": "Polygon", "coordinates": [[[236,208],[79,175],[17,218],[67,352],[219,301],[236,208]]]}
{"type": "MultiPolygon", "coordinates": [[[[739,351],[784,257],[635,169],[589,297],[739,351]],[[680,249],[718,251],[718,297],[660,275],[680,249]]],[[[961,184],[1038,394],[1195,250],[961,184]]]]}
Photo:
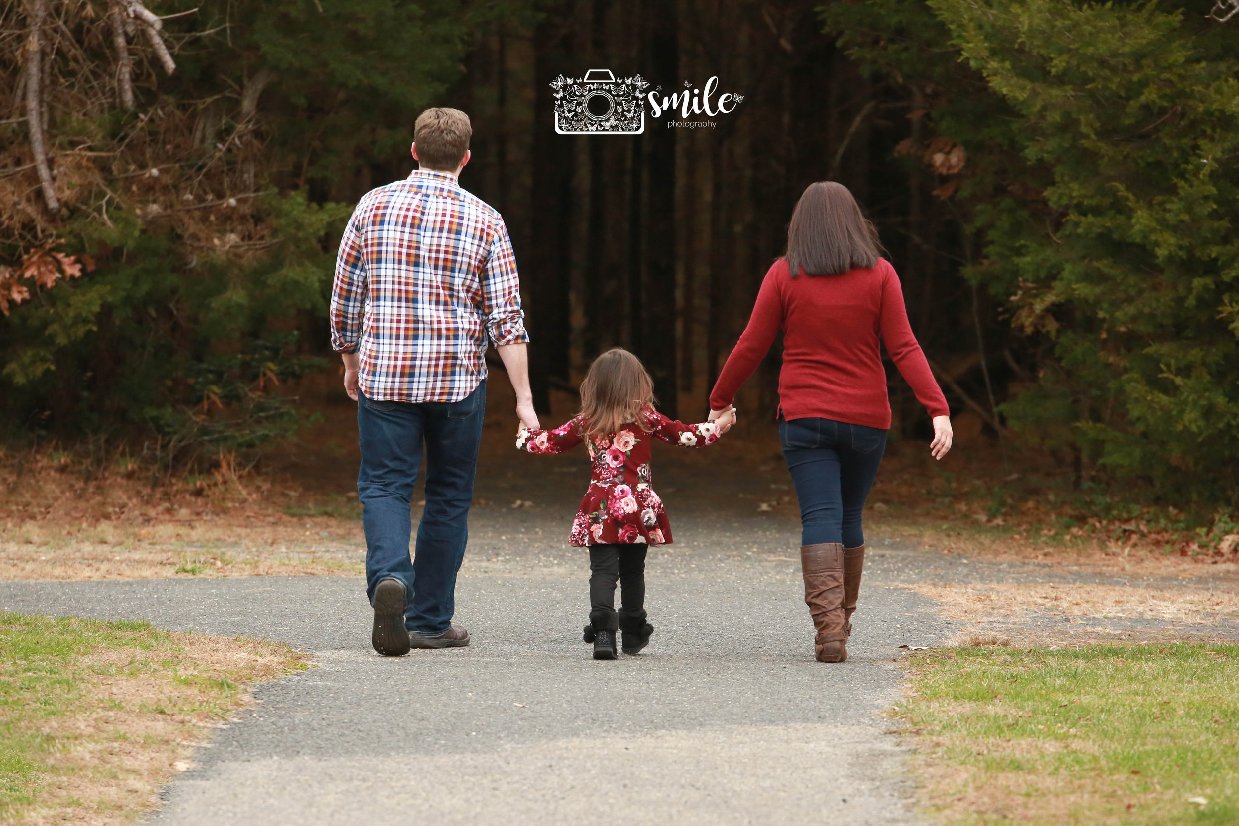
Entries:
{"type": "Polygon", "coordinates": [[[331,343],[357,401],[370,641],[384,655],[470,643],[451,619],[486,412],[487,338],[517,391],[517,415],[538,426],[512,241],[499,213],[458,182],[472,134],[463,111],[421,113],[420,168],[362,198],[336,263],[331,343]],[[426,504],[410,559],[422,445],[426,504]]]}

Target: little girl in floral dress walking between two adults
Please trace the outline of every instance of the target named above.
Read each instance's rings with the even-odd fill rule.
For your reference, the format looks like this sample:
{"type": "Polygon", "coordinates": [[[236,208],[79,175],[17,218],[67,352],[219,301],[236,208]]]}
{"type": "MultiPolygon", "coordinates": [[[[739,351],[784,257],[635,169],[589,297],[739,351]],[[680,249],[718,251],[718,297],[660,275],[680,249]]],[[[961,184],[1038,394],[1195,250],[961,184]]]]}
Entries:
{"type": "Polygon", "coordinates": [[[663,500],[650,487],[650,437],[704,447],[735,424],[729,407],[715,421],[685,425],[654,410],[654,384],[636,355],[616,348],[600,355],[581,383],[581,412],[555,430],[520,428],[517,450],[563,453],[582,441],[592,478],[569,541],[590,549],[590,624],[585,641],[593,659],[613,660],[616,630],[624,654],[646,648],[654,627],[646,622],[646,547],[670,545],[663,500]],[[616,615],[616,580],[621,583],[616,615]]]}

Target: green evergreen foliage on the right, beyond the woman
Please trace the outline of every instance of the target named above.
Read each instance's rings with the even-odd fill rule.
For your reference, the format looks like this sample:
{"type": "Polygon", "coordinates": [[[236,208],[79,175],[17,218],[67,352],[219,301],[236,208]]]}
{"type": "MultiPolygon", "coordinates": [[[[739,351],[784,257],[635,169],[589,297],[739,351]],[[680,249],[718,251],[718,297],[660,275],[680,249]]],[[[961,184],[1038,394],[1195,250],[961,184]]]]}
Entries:
{"type": "Polygon", "coordinates": [[[1042,347],[1007,421],[1084,474],[1233,499],[1239,32],[1149,1],[823,14],[869,71],[926,88],[938,134],[966,147],[944,193],[980,244],[966,275],[1042,347]]]}

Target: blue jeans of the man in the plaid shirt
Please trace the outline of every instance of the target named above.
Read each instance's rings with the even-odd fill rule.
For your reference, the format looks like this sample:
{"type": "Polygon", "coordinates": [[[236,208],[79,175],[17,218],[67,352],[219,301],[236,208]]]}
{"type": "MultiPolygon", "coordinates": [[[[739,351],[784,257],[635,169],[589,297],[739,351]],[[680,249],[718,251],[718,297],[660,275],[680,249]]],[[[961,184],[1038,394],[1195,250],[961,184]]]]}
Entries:
{"type": "Polygon", "coordinates": [[[465,561],[473,474],[486,416],[486,384],[460,401],[372,401],[358,394],[362,469],[357,497],[364,506],[366,594],[393,577],[404,583],[405,625],[440,637],[456,613],[456,573],[465,561]],[[426,451],[426,505],[410,559],[413,487],[426,451]]]}

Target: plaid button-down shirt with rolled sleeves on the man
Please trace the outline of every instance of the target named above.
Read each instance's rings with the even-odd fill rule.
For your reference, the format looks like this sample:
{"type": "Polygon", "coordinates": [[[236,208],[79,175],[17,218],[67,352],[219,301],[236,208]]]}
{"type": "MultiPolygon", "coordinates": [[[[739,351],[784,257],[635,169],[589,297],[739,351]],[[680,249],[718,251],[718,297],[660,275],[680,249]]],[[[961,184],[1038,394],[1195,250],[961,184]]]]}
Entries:
{"type": "Polygon", "coordinates": [[[331,346],[361,352],[375,401],[460,401],[486,379],[487,337],[527,342],[503,218],[447,172],[366,194],[331,290],[331,346]]]}

